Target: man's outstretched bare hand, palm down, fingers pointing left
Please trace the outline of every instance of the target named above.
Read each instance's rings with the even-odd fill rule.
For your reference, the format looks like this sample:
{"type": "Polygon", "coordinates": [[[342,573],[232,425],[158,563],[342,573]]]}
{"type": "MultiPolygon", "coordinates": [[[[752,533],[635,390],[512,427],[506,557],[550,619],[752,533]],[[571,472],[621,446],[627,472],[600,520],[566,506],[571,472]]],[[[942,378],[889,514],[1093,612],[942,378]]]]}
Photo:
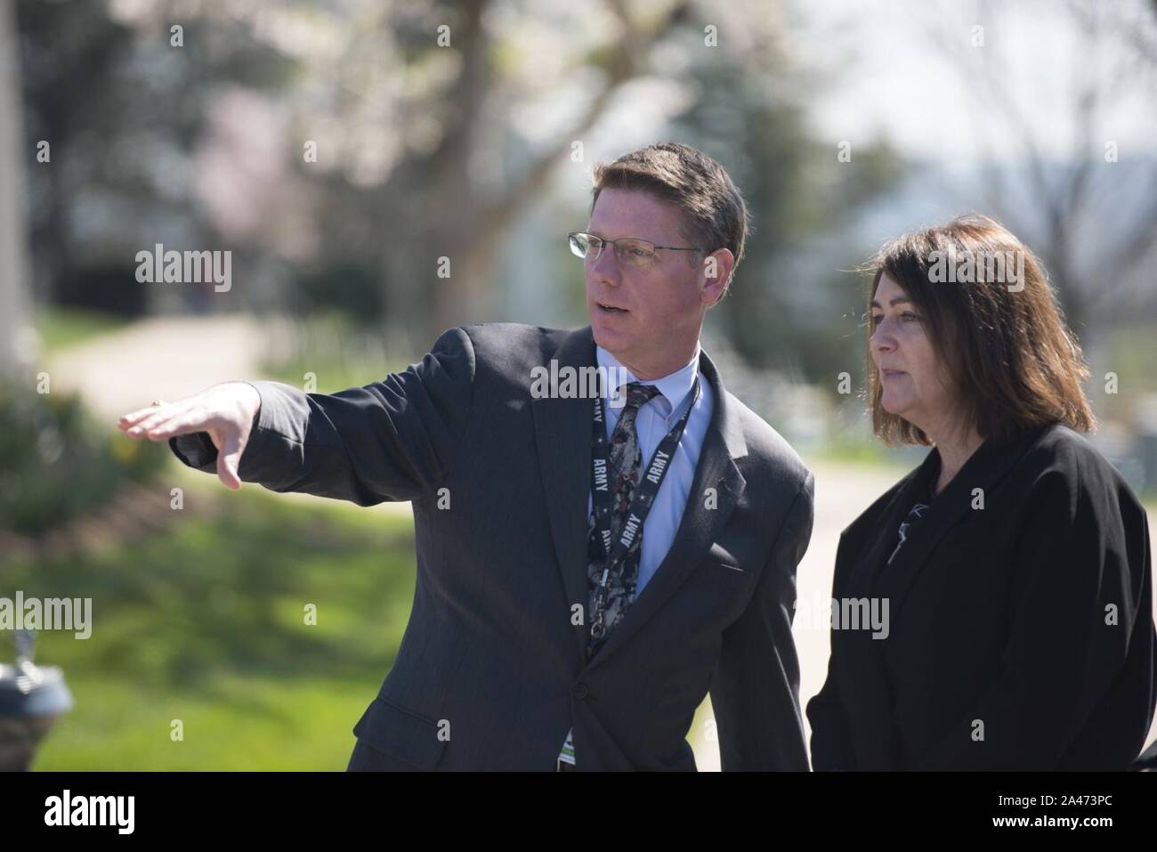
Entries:
{"type": "Polygon", "coordinates": [[[214,384],[175,403],[157,403],[124,414],[117,427],[130,438],[167,441],[174,435],[207,432],[218,448],[218,477],[229,489],[241,489],[237,469],[249,442],[253,418],[261,407],[257,388],[245,382],[214,384]]]}

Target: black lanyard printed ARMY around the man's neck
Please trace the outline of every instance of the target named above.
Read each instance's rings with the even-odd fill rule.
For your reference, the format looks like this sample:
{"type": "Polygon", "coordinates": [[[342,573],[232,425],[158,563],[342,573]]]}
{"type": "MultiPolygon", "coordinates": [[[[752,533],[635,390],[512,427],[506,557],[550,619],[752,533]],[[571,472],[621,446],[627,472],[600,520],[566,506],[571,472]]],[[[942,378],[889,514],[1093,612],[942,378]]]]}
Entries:
{"type": "Polygon", "coordinates": [[[683,438],[683,429],[691,418],[691,412],[699,401],[699,375],[695,375],[695,385],[691,396],[691,404],[683,412],[679,421],[671,427],[666,436],[659,441],[655,449],[655,455],[643,469],[642,478],[635,486],[631,497],[631,506],[627,509],[627,520],[622,522],[619,537],[611,544],[611,463],[607,454],[606,426],[604,424],[604,405],[602,397],[595,398],[595,420],[591,435],[591,469],[590,469],[590,492],[595,504],[595,534],[603,545],[605,561],[603,564],[603,576],[598,582],[598,590],[595,594],[595,612],[591,617],[591,636],[600,639],[605,631],[603,615],[606,611],[606,598],[610,595],[607,579],[611,571],[618,567],[619,563],[631,550],[631,545],[642,535],[643,521],[650,513],[655,504],[655,495],[663,484],[675,450],[679,447],[679,439],[683,438]]]}

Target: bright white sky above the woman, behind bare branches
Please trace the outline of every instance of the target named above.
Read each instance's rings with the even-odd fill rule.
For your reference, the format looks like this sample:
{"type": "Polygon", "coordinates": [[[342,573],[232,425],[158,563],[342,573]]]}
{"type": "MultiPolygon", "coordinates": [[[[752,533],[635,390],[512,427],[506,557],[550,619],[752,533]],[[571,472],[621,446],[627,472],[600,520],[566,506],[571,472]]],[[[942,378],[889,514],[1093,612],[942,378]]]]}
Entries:
{"type": "MultiPolygon", "coordinates": [[[[1020,138],[1003,122],[997,126],[1005,132],[978,132],[994,122],[977,97],[985,91],[987,65],[1046,155],[1066,160],[1079,148],[1076,132],[1085,123],[1075,120],[1076,94],[1090,80],[1104,94],[1103,109],[1085,124],[1096,153],[1112,140],[1122,155],[1157,154],[1157,61],[1138,61],[1118,36],[1091,50],[1067,3],[794,0],[791,8],[797,58],[835,75],[811,104],[824,135],[854,146],[883,133],[909,156],[949,164],[987,155],[1017,159],[1020,138]],[[1123,76],[1114,80],[1118,72],[1123,76]]],[[[1142,12],[1137,2],[1097,8],[1126,19],[1142,12]]]]}

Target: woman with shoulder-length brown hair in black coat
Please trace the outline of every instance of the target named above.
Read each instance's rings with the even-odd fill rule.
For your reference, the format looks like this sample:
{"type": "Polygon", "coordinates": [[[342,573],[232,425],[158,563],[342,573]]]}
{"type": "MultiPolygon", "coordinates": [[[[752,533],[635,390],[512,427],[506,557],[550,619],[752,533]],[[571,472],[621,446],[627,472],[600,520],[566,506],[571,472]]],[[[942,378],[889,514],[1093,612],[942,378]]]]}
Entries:
{"type": "Polygon", "coordinates": [[[876,434],[934,449],[840,537],[813,767],[1127,769],[1157,704],[1148,519],[1078,434],[1040,264],[970,216],[886,245],[869,293],[876,434]]]}

